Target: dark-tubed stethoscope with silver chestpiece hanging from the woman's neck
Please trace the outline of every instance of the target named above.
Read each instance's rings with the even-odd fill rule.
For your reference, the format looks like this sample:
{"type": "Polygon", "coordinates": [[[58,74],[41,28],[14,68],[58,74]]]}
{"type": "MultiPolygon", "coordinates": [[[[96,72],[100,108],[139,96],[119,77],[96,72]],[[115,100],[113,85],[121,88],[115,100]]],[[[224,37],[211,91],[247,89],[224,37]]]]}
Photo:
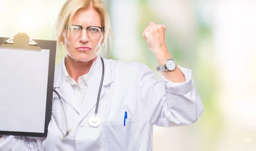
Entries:
{"type": "MultiPolygon", "coordinates": [[[[101,124],[101,119],[100,117],[97,115],[97,112],[98,112],[98,107],[99,107],[99,96],[100,96],[100,91],[101,91],[101,88],[102,88],[102,83],[103,83],[103,79],[104,79],[104,71],[105,71],[105,66],[104,66],[104,61],[102,59],[102,57],[100,57],[100,59],[102,60],[102,79],[100,81],[100,85],[99,85],[99,92],[98,92],[98,98],[97,98],[97,103],[96,103],[96,109],[95,109],[95,114],[90,116],[89,119],[88,119],[88,124],[91,126],[91,127],[99,127],[99,125],[101,124]]],[[[62,100],[61,100],[61,96],[60,94],[58,94],[58,92],[53,89],[53,91],[58,95],[58,98],[57,97],[54,97],[53,99],[58,99],[60,100],[61,102],[61,106],[62,106],[62,109],[63,109],[63,112],[64,112],[64,117],[65,117],[65,122],[66,122],[66,134],[64,134],[64,132],[61,130],[60,126],[58,125],[58,122],[56,120],[56,117],[55,117],[55,114],[54,112],[52,111],[52,117],[58,127],[58,129],[60,130],[61,134],[63,135],[61,137],[61,139],[63,139],[64,137],[67,137],[71,131],[71,129],[68,128],[68,125],[67,125],[67,116],[66,116],[66,112],[65,112],[65,108],[64,108],[64,105],[62,103],[62,100]]]]}

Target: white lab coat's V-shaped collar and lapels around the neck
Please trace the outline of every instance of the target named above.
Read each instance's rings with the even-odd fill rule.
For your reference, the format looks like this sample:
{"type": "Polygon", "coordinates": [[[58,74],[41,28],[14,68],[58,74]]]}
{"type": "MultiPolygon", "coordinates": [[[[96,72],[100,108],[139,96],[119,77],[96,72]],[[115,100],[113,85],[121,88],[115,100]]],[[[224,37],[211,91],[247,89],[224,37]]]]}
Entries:
{"type": "MultiPolygon", "coordinates": [[[[102,83],[100,98],[103,96],[103,94],[106,91],[105,86],[113,82],[112,74],[111,74],[111,65],[105,59],[104,59],[104,63],[105,63],[105,74],[104,74],[104,80],[102,83]]],[[[89,113],[89,111],[96,105],[98,92],[99,92],[99,85],[102,77],[102,61],[100,59],[100,56],[98,55],[95,63],[95,68],[90,75],[88,89],[84,97],[84,103],[81,109],[78,106],[78,104],[74,102],[74,98],[76,96],[73,93],[73,89],[70,83],[66,80],[63,66],[64,66],[64,58],[61,60],[61,63],[59,63],[55,67],[54,88],[59,88],[58,93],[61,95],[61,97],[67,103],[69,103],[77,112],[80,113],[80,110],[83,111],[79,115],[79,121],[81,121],[89,113]]]]}

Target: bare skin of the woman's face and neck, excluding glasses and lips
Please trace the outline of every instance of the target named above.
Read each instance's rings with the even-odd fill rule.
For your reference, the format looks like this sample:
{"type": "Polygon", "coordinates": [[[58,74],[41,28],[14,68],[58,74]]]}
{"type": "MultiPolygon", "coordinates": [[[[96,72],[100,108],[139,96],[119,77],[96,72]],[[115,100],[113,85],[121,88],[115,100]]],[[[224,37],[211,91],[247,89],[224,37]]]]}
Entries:
{"type": "MultiPolygon", "coordinates": [[[[79,25],[83,27],[99,26],[101,27],[100,14],[90,8],[88,10],[81,10],[76,12],[72,20],[73,25],[79,25]]],[[[67,30],[63,33],[63,43],[66,48],[66,68],[71,78],[78,83],[78,78],[84,74],[87,74],[96,60],[98,55],[99,46],[103,43],[103,32],[99,39],[91,39],[87,35],[87,31],[84,28],[81,36],[78,38],[70,38],[67,36],[67,30]],[[80,51],[78,47],[90,47],[90,51],[80,51]]]]}

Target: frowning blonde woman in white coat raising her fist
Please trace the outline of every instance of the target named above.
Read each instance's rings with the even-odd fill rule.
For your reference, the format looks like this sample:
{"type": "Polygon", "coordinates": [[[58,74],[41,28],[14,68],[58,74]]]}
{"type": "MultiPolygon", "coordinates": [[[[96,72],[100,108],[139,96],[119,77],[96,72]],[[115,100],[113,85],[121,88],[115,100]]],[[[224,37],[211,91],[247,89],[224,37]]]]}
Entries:
{"type": "Polygon", "coordinates": [[[162,71],[163,78],[154,80],[143,64],[101,60],[100,45],[106,51],[112,34],[105,7],[99,0],[68,0],[55,29],[58,48],[64,45],[67,55],[55,68],[54,89],[63,101],[70,133],[63,138],[65,117],[59,101],[53,101],[55,120],[64,134],[52,117],[47,138],[3,136],[0,150],[151,151],[153,125],[195,123],[204,107],[191,70],[176,66],[167,50],[165,30],[151,22],[142,34],[162,71]],[[101,124],[93,125],[88,120],[95,112],[103,66],[97,113],[101,124]]]}

